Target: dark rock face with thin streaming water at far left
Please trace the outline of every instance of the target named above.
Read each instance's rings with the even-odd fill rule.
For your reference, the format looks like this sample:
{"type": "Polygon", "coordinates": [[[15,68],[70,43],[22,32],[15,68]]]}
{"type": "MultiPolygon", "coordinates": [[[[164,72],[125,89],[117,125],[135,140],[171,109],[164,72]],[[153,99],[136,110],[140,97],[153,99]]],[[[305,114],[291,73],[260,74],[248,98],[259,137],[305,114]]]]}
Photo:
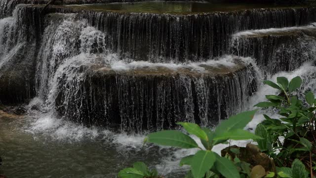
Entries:
{"type": "Polygon", "coordinates": [[[0,100],[4,104],[26,102],[35,96],[36,44],[40,33],[40,20],[35,14],[30,9],[20,8],[16,19],[2,21],[0,100]]]}

